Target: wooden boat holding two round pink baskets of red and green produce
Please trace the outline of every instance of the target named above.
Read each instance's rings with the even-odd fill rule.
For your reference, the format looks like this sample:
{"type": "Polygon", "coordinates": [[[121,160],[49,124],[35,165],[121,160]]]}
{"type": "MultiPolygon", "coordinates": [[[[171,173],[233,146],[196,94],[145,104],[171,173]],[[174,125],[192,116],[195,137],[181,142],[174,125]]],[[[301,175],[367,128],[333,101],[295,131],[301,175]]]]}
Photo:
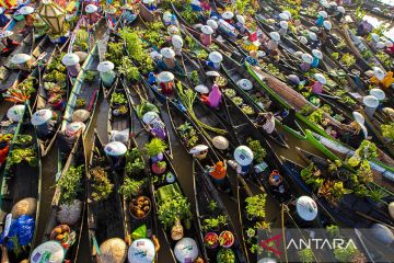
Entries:
{"type": "MultiPolygon", "coordinates": [[[[199,162],[194,162],[193,164],[193,180],[194,180],[194,191],[195,191],[195,201],[196,201],[196,214],[197,222],[199,226],[199,238],[201,242],[205,242],[205,236],[209,233],[216,233],[220,236],[223,231],[230,231],[233,235],[233,244],[231,250],[234,262],[246,263],[245,250],[241,244],[241,240],[236,236],[235,228],[231,221],[230,215],[219,197],[219,193],[215,188],[212,182],[208,179],[204,168],[199,162]],[[215,203],[213,209],[212,204],[215,203]],[[221,224],[212,227],[209,225],[210,219],[222,218],[221,224]]],[[[224,248],[225,251],[227,248],[224,248]]],[[[204,247],[204,254],[208,262],[217,262],[218,256],[221,252],[220,248],[209,249],[207,245],[204,247]]],[[[229,253],[231,253],[229,252],[229,253]]]]}

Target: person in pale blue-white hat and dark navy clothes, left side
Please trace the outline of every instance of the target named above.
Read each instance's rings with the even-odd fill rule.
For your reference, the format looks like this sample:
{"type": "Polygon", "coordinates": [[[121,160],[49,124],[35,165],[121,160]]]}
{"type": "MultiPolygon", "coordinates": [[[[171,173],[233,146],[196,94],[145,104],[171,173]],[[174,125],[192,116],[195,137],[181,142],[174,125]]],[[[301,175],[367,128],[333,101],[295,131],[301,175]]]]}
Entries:
{"type": "Polygon", "coordinates": [[[56,133],[56,121],[53,119],[54,113],[49,108],[36,111],[32,116],[32,124],[35,126],[37,137],[47,140],[56,133]]]}

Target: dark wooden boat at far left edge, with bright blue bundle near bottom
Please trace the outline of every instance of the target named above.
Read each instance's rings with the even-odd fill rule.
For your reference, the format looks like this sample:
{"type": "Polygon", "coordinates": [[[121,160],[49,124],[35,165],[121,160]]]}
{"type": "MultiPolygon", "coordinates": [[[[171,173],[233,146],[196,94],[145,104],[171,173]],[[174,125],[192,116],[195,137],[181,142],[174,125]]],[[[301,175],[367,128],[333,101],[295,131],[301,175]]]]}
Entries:
{"type": "MultiPolygon", "coordinates": [[[[31,114],[28,104],[25,104],[23,121],[14,133],[15,136],[8,157],[9,160],[5,164],[1,179],[1,221],[10,221],[12,217],[14,219],[21,217],[23,211],[21,213],[19,208],[22,204],[24,204],[23,207],[27,204],[27,206],[32,208],[26,211],[28,216],[26,219],[34,220],[33,225],[26,225],[26,228],[31,227],[31,237],[26,240],[28,242],[24,241],[26,242],[25,247],[20,247],[20,253],[16,254],[14,253],[14,250],[8,251],[7,249],[2,251],[4,253],[4,259],[7,259],[5,251],[8,251],[10,262],[27,260],[32,248],[34,248],[36,242],[35,230],[38,226],[42,194],[42,165],[35,129],[33,125],[30,124],[31,114]],[[22,136],[24,136],[24,139],[22,139],[22,136]],[[27,139],[26,136],[28,136],[30,139],[27,139]],[[7,219],[8,217],[9,219],[7,219]]],[[[8,222],[4,226],[9,226],[8,222]]],[[[11,240],[15,238],[16,236],[7,237],[5,239],[11,240]]],[[[16,240],[18,239],[19,238],[16,238],[16,240]]]]}

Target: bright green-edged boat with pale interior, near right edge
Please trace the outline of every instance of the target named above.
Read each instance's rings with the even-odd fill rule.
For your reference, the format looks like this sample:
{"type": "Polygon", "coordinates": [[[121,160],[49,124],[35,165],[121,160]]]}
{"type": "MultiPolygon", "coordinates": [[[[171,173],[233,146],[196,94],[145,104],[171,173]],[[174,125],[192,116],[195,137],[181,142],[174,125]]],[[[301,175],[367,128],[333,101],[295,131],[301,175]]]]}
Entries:
{"type": "MultiPolygon", "coordinates": [[[[355,150],[338,142],[331,140],[321,135],[317,135],[311,130],[306,130],[306,139],[314,145],[320,151],[322,151],[331,160],[345,160],[351,157],[355,153],[355,150]]],[[[385,163],[385,156],[381,152],[378,160],[369,161],[371,169],[380,174],[381,176],[393,181],[394,180],[394,170],[392,163],[385,163]]]]}

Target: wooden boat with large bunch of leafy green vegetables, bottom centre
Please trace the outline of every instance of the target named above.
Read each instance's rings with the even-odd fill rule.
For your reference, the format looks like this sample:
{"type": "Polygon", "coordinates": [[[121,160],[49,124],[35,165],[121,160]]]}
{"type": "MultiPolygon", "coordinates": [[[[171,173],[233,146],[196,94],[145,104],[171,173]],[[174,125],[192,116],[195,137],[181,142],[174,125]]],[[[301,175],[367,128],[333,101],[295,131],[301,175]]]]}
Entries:
{"type": "MultiPolygon", "coordinates": [[[[172,202],[174,199],[182,199],[182,203],[188,203],[188,198],[185,195],[185,192],[183,191],[178,175],[176,171],[174,170],[170,158],[164,155],[164,159],[166,163],[166,172],[158,176],[158,180],[153,182],[154,187],[154,207],[157,208],[157,214],[159,215],[159,221],[160,221],[160,214],[162,206],[165,206],[166,203],[172,202]],[[170,176],[170,178],[169,178],[170,176]],[[172,181],[172,183],[170,182],[172,181]]],[[[189,204],[190,205],[190,204],[189,204]]],[[[189,207],[188,205],[188,207],[189,207]]],[[[190,209],[190,208],[188,208],[190,209]]],[[[163,211],[165,213],[165,211],[163,211]]],[[[179,215],[181,216],[181,215],[179,215]]],[[[177,243],[177,240],[183,236],[183,238],[190,238],[195,240],[199,255],[202,256],[205,260],[208,260],[206,255],[202,253],[202,244],[199,238],[199,228],[197,227],[196,217],[192,218],[192,211],[188,210],[187,213],[182,213],[182,218],[175,219],[175,222],[170,222],[170,225],[165,226],[162,221],[160,221],[160,225],[163,229],[163,233],[165,237],[165,241],[167,242],[170,247],[171,258],[175,262],[175,244],[177,243]],[[175,224],[175,225],[174,225],[175,224]],[[183,235],[179,235],[179,226],[183,227],[183,235]],[[174,240],[174,239],[175,240],[174,240]]]]}

